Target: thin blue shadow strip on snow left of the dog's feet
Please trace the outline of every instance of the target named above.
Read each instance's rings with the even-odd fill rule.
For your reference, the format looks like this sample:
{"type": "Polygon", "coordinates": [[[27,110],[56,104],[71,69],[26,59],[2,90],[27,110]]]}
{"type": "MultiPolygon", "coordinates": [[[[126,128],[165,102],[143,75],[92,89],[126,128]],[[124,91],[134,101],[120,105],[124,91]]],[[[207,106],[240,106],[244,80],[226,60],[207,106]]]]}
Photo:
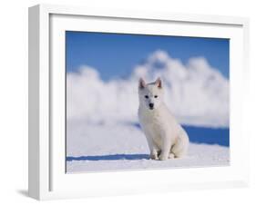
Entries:
{"type": "Polygon", "coordinates": [[[149,159],[148,154],[111,154],[111,155],[96,155],[96,156],[80,156],[80,157],[67,157],[66,161],[118,161],[129,160],[138,161],[149,159]]]}

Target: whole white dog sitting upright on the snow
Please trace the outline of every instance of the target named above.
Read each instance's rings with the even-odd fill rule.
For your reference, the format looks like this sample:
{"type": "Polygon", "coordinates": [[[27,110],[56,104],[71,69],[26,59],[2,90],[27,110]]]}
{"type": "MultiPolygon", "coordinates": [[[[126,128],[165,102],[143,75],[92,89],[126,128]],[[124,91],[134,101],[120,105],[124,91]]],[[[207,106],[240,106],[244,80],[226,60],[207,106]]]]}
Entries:
{"type": "Polygon", "coordinates": [[[147,137],[150,159],[161,161],[183,157],[189,147],[189,137],[169,112],[163,94],[159,78],[148,84],[139,79],[139,123],[147,137]]]}

